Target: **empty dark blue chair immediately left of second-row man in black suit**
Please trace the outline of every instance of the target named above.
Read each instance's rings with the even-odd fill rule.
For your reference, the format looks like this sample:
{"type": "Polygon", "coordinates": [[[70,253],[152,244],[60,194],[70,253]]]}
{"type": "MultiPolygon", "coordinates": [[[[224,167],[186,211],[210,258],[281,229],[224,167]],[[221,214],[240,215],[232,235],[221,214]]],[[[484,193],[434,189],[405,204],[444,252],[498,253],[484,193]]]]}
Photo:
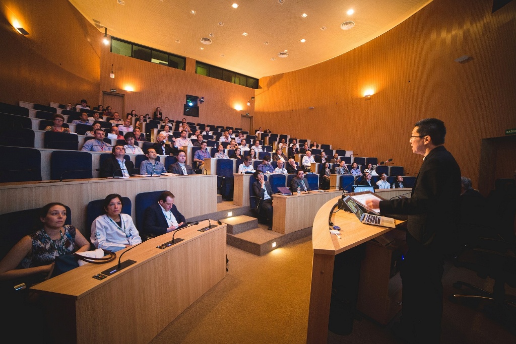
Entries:
{"type": "Polygon", "coordinates": [[[91,160],[91,154],[88,152],[54,151],[50,156],[50,179],[56,181],[61,177],[63,180],[93,178],[91,160]],[[70,172],[64,173],[66,171],[70,172]]]}

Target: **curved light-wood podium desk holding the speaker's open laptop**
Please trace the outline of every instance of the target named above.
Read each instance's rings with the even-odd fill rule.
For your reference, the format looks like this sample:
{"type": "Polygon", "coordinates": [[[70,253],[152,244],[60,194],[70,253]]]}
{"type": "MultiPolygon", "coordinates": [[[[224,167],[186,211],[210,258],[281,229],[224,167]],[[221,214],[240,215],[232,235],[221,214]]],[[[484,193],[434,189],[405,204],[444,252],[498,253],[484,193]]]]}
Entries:
{"type": "MultiPolygon", "coordinates": [[[[341,227],[341,238],[330,234],[328,217],[332,207],[340,198],[339,195],[321,206],[313,223],[312,283],[307,343],[326,343],[327,341],[335,255],[392,230],[388,227],[363,224],[353,214],[340,210],[332,218],[333,223],[341,227]]],[[[396,224],[402,222],[395,221],[396,224]]]]}

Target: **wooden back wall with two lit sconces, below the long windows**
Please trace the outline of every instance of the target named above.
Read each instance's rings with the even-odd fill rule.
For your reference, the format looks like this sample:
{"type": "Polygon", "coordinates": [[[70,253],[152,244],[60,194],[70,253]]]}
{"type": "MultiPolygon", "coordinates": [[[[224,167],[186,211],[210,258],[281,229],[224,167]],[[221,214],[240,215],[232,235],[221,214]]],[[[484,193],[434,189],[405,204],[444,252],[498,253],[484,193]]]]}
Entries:
{"type": "Polygon", "coordinates": [[[186,95],[191,94],[204,96],[205,102],[199,105],[198,118],[186,117],[189,122],[238,127],[241,114],[254,114],[254,102],[247,106],[254,89],[195,74],[195,60],[190,58],[182,71],[110,53],[109,46],[103,46],[100,87],[101,91],[112,88],[124,93],[125,112],[134,109],[137,114],[152,114],[159,106],[164,116],[181,120],[186,95]],[[111,64],[115,78],[109,77],[111,64]],[[128,86],[135,91],[124,91],[128,86]],[[236,105],[243,109],[235,110],[236,105]]]}

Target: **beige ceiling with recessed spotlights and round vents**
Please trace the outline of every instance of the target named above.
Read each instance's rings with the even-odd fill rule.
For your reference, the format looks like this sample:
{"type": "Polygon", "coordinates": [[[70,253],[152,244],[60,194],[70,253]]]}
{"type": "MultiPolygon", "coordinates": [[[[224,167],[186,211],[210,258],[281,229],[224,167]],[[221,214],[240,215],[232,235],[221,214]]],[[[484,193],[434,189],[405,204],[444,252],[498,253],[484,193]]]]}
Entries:
{"type": "Polygon", "coordinates": [[[108,35],[256,78],[309,67],[342,55],[380,36],[431,2],[125,0],[120,5],[117,0],[69,1],[92,24],[95,20],[102,34],[101,26],[105,26],[108,35]],[[234,2],[239,5],[236,9],[231,7],[234,2]],[[349,9],[354,10],[352,15],[346,13],[349,9]],[[308,16],[302,18],[303,13],[308,16]],[[355,26],[342,30],[340,25],[349,20],[355,26]],[[320,29],[323,26],[326,30],[320,29]],[[249,35],[243,36],[244,32],[249,35]],[[214,35],[213,43],[202,44],[200,39],[209,34],[214,35]],[[301,43],[301,39],[306,42],[301,43]],[[278,57],[284,50],[289,56],[278,57]]]}

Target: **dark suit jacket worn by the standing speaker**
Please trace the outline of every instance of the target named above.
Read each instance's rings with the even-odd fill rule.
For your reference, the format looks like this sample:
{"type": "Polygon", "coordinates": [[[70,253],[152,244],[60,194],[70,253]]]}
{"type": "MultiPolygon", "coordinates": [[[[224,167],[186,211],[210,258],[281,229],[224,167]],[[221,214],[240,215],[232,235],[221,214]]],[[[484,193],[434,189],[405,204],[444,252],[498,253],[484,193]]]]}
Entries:
{"type": "Polygon", "coordinates": [[[380,211],[408,215],[410,235],[423,245],[441,251],[456,232],[460,190],[459,165],[441,145],[425,157],[411,198],[381,201],[380,211]]]}

